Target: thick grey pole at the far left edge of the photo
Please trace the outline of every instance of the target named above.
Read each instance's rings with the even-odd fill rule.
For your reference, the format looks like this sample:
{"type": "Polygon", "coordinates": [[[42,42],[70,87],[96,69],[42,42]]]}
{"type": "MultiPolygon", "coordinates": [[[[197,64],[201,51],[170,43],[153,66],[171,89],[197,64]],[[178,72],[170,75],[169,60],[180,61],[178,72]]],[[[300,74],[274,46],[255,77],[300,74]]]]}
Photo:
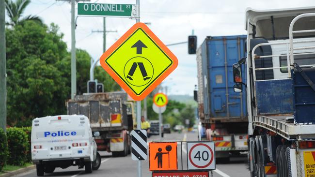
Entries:
{"type": "Polygon", "coordinates": [[[5,57],[5,8],[0,0],[0,128],[6,132],[7,125],[7,74],[5,57]]]}

